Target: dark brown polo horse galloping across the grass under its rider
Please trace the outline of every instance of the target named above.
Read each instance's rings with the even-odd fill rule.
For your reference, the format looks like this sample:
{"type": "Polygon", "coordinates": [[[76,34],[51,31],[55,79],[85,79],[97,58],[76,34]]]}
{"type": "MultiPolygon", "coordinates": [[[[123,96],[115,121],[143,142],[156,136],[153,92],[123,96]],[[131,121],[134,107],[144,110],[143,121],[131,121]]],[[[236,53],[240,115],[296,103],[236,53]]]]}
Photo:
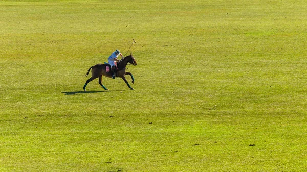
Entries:
{"type": "MultiPolygon", "coordinates": [[[[134,66],[136,66],[137,65],[136,59],[132,56],[132,53],[131,53],[130,56],[126,56],[126,57],[124,57],[123,59],[119,60],[116,63],[117,63],[116,77],[122,78],[125,81],[125,83],[127,84],[127,86],[131,90],[133,90],[133,88],[130,86],[130,84],[126,80],[125,75],[130,75],[131,79],[132,79],[132,83],[134,83],[133,75],[130,72],[126,72],[126,66],[127,66],[128,63],[131,63],[134,66]]],[[[108,65],[106,65],[106,64],[96,64],[96,65],[90,67],[89,70],[87,70],[87,73],[86,73],[85,77],[87,75],[89,75],[89,72],[90,72],[91,69],[92,69],[92,77],[90,79],[88,79],[86,81],[86,83],[84,84],[84,86],[83,86],[83,90],[84,91],[86,91],[86,89],[85,89],[86,85],[89,82],[91,82],[94,79],[96,79],[96,78],[99,78],[99,82],[98,83],[102,86],[102,88],[104,90],[109,90],[104,85],[102,85],[102,83],[101,83],[102,76],[106,76],[106,77],[112,78],[111,71],[107,72],[106,71],[106,67],[108,67],[108,65]]],[[[109,68],[109,70],[111,70],[111,68],[109,68]]]]}

